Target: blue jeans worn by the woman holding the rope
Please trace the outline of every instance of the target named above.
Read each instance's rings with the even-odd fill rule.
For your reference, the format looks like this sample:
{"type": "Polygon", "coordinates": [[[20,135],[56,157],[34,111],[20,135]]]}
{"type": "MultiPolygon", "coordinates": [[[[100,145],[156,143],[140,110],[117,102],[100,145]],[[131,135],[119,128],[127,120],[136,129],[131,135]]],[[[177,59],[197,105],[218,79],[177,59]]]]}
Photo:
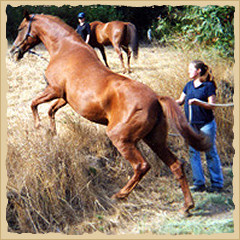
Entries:
{"type": "MultiPolygon", "coordinates": [[[[210,180],[212,187],[223,187],[223,174],[221,162],[217,153],[216,148],[216,129],[217,125],[215,120],[210,123],[204,125],[200,130],[208,135],[212,142],[212,147],[208,152],[205,152],[207,166],[210,174],[210,180]]],[[[200,152],[196,151],[191,146],[189,147],[190,154],[190,163],[192,166],[192,174],[193,174],[193,184],[195,186],[204,185],[205,178],[202,168],[202,162],[200,157],[200,152]]]]}

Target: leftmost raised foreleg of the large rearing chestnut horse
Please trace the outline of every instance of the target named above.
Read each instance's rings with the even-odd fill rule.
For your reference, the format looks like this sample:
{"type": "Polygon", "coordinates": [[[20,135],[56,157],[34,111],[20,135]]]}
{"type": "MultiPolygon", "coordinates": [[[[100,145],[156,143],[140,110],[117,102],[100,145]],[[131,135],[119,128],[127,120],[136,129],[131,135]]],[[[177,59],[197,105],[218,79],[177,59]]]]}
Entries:
{"type": "Polygon", "coordinates": [[[31,109],[33,112],[34,125],[36,128],[39,128],[40,126],[40,117],[37,110],[38,105],[41,103],[49,102],[59,97],[60,94],[48,85],[46,89],[32,101],[31,109]]]}

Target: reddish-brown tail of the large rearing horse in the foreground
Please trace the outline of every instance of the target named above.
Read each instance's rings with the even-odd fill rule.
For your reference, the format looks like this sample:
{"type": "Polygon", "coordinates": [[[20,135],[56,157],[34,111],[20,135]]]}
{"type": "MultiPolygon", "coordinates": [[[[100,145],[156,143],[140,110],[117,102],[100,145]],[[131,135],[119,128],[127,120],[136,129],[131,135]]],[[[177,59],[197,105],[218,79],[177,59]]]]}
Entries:
{"type": "Polygon", "coordinates": [[[206,151],[211,147],[210,139],[202,132],[196,133],[189,125],[181,108],[174,99],[166,96],[159,96],[160,102],[165,116],[173,124],[179,133],[184,137],[187,143],[198,151],[206,151]]]}

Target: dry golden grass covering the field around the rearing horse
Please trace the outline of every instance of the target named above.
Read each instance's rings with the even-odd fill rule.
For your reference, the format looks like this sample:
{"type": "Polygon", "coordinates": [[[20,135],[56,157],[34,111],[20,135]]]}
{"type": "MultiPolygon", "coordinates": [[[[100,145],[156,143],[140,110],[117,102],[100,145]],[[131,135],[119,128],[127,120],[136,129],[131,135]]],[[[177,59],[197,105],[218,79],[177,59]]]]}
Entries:
{"type": "MultiPolygon", "coordinates": [[[[37,51],[48,58],[44,48],[38,47],[37,51]]],[[[111,69],[121,72],[113,49],[107,49],[107,57],[111,69]]],[[[130,77],[149,85],[161,95],[177,98],[188,81],[186,70],[193,59],[202,59],[213,68],[219,87],[219,101],[232,101],[232,64],[200,50],[187,52],[184,49],[141,46],[138,61],[132,63],[133,73],[130,77]]],[[[26,55],[19,63],[7,57],[6,63],[9,85],[9,231],[66,234],[96,230],[107,234],[152,231],[161,234],[153,229],[152,222],[157,226],[166,219],[180,219],[176,213],[183,197],[177,182],[141,142],[139,147],[153,168],[128,201],[112,202],[111,195],[126,183],[132,169],[107,138],[105,128],[81,118],[66,106],[56,115],[58,135],[52,136],[48,129],[49,104],[42,104],[39,107],[42,127],[36,131],[30,104],[45,88],[43,73],[48,63],[33,55],[26,55]]],[[[216,119],[220,157],[223,166],[230,166],[224,167],[224,196],[231,199],[230,173],[234,154],[232,109],[218,109],[216,119]]],[[[170,136],[169,145],[179,159],[187,161],[187,148],[181,138],[170,136]]],[[[186,171],[191,182],[188,163],[186,171]]],[[[195,198],[202,201],[198,195],[195,198]]],[[[223,210],[225,214],[232,213],[229,206],[224,209],[212,208],[209,217],[223,210]]],[[[199,209],[194,214],[198,219],[199,209]]]]}

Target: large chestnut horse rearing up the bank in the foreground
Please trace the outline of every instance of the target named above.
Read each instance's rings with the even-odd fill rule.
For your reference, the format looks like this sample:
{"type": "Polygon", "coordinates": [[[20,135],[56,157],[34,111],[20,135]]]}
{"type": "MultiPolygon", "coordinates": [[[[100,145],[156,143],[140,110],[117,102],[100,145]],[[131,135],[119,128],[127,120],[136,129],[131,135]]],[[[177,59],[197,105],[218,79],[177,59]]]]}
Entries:
{"type": "Polygon", "coordinates": [[[106,125],[108,137],[134,170],[127,184],[113,195],[117,199],[126,198],[150,169],[136,146],[143,139],[178,179],[185,200],[181,210],[188,214],[194,202],[183,164],[167,147],[167,118],[196,149],[208,149],[209,141],[191,129],[175,101],[109,70],[93,48],[57,17],[25,13],[18,31],[11,49],[17,60],[40,42],[50,54],[45,73],[47,87],[31,104],[35,126],[40,125],[38,105],[53,99],[57,101],[48,112],[53,131],[55,113],[67,103],[88,120],[106,125]]]}

